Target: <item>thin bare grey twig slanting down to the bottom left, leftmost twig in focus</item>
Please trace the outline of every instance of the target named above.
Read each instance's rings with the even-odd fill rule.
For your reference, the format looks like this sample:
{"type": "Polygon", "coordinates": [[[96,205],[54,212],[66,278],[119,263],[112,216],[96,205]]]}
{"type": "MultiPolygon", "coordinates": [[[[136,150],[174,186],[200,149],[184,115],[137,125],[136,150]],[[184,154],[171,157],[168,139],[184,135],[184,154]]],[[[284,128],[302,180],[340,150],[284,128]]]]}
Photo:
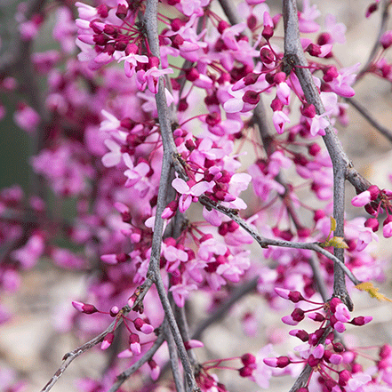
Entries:
{"type": "Polygon", "coordinates": [[[129,306],[124,306],[124,308],[122,308],[116,316],[116,320],[114,320],[105,331],[100,332],[98,336],[96,336],[92,340],[89,340],[87,343],[84,343],[83,346],[75,348],[73,351],[70,351],[65,356],[63,356],[63,363],[61,364],[60,368],[54,373],[52,379],[48,381],[44,388],[41,389],[41,392],[48,392],[49,390],[51,390],[52,386],[60,379],[63,372],[66,371],[69,364],[71,364],[74,359],[82,355],[90,348],[93,348],[94,346],[99,344],[102,340],[104,340],[105,336],[108,335],[108,333],[116,331],[116,329],[123,323],[123,316],[126,316],[130,311],[131,308],[129,306]]]}

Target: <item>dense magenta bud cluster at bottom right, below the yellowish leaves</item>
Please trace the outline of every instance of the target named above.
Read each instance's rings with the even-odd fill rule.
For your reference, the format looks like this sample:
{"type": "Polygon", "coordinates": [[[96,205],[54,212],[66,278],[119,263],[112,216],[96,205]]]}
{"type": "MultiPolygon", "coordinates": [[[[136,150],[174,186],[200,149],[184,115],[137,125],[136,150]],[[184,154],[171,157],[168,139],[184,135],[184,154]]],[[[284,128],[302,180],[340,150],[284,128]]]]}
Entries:
{"type": "MultiPolygon", "coordinates": [[[[300,357],[279,356],[264,358],[264,363],[273,368],[285,368],[289,364],[308,364],[312,372],[319,372],[318,382],[323,384],[323,390],[342,392],[351,391],[354,384],[358,383],[359,377],[354,374],[360,372],[356,364],[356,353],[351,351],[340,342],[336,341],[335,332],[344,332],[345,324],[364,325],[372,321],[371,316],[358,316],[351,319],[348,308],[339,298],[332,298],[325,304],[306,300],[300,292],[276,288],[276,294],[293,303],[300,301],[316,305],[316,308],[303,310],[295,308],[290,316],[284,316],[283,322],[289,325],[299,324],[308,313],[308,318],[320,323],[315,332],[308,333],[304,330],[292,330],[290,335],[302,340],[297,350],[300,357]],[[322,312],[319,312],[321,310],[322,312]]],[[[361,373],[362,383],[367,383],[372,378],[361,373]]],[[[310,380],[311,375],[309,376],[310,380]]],[[[309,383],[308,380],[308,383],[309,383]]],[[[298,391],[306,392],[307,387],[298,391]]],[[[297,392],[298,392],[297,391],[297,392]]]]}

